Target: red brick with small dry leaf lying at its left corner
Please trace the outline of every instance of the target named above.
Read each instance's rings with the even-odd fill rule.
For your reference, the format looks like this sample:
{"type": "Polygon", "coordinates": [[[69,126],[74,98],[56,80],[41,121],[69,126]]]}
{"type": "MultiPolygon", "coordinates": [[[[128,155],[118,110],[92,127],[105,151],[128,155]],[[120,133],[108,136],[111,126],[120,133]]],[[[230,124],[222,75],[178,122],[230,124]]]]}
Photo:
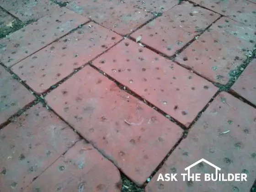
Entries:
{"type": "Polygon", "coordinates": [[[218,17],[219,14],[183,2],[134,32],[131,37],[136,39],[141,36],[141,43],[171,56],[218,17]]]}

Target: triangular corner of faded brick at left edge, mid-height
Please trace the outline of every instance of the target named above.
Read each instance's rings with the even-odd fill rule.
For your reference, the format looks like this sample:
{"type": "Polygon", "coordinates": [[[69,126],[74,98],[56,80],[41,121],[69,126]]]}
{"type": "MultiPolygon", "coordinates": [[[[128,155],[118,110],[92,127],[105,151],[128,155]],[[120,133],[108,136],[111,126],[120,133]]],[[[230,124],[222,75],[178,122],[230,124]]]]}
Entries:
{"type": "Polygon", "coordinates": [[[0,66],[0,126],[35,97],[0,66]]]}

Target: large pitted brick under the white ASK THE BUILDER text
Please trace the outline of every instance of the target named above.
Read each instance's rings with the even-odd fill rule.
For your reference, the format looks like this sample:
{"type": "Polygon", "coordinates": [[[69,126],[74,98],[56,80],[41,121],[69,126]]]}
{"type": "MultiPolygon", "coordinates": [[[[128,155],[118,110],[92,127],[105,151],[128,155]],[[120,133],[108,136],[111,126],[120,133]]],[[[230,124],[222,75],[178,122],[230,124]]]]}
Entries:
{"type": "MultiPolygon", "coordinates": [[[[151,179],[146,192],[249,192],[256,178],[256,109],[220,93],[151,179]],[[204,158],[221,168],[219,173],[246,173],[247,181],[183,181],[184,169],[204,158]],[[177,173],[178,181],[157,181],[159,173],[177,173]]],[[[191,173],[215,173],[200,163],[191,173]]]]}

